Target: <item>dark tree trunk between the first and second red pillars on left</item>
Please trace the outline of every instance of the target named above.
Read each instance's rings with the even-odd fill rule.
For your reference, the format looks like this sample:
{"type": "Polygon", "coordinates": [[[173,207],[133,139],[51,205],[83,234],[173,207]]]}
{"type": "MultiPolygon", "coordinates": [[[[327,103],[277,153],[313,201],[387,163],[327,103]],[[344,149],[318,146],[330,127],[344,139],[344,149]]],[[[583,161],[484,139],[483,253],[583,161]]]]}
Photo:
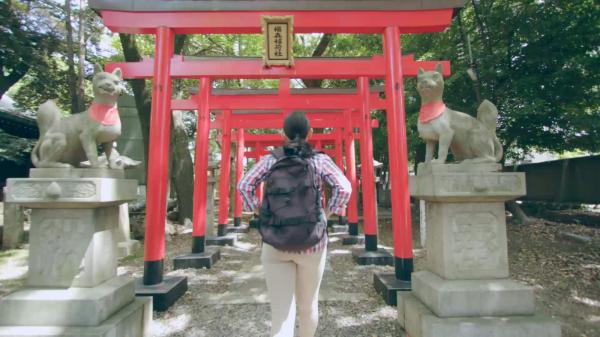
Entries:
{"type": "Polygon", "coordinates": [[[183,113],[173,111],[171,125],[170,176],[172,187],[177,194],[179,222],[192,219],[194,205],[194,163],[188,149],[189,138],[183,123],[183,113]]]}

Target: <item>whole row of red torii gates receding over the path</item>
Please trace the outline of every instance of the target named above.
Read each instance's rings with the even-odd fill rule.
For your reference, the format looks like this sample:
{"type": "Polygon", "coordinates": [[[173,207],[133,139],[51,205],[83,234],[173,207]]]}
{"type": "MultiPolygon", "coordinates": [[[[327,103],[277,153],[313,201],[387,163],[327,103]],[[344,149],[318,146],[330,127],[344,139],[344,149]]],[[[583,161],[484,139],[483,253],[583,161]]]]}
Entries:
{"type": "MultiPolygon", "coordinates": [[[[395,272],[376,275],[375,282],[384,291],[410,288],[413,271],[413,247],[408,190],[408,155],[406,116],[404,110],[404,77],[414,77],[419,67],[433,69],[441,63],[444,75],[450,73],[449,62],[416,61],[401,55],[400,35],[406,33],[437,32],[451,22],[454,7],[462,1],[128,1],[130,8],[109,0],[91,0],[90,6],[100,12],[104,24],[113,32],[153,34],[156,37],[155,56],[140,62],[111,63],[107,70],[119,67],[125,78],[151,79],[152,115],[148,158],[147,214],[144,250],[144,276],[138,286],[138,295],[154,297],[157,310],[166,310],[187,289],[182,277],[164,277],[166,198],[168,189],[168,162],[172,110],[195,110],[198,115],[192,254],[186,258],[211,259],[213,252],[206,246],[206,195],[208,172],[208,140],[211,128],[218,128],[222,139],[220,205],[218,235],[227,235],[229,211],[230,151],[237,143],[237,172],[242,172],[241,152],[255,145],[247,157],[259,157],[267,144],[266,136],[247,135],[248,129],[281,128],[286,113],[305,110],[313,128],[332,128],[332,134],[315,135],[317,146],[333,145],[336,163],[345,170],[353,184],[352,200],[347,210],[350,235],[358,234],[356,207],[355,138],[359,139],[363,193],[363,230],[365,247],[358,255],[367,261],[385,260],[385,251],[377,247],[377,213],[373,173],[372,110],[386,111],[389,146],[389,173],[391,180],[392,226],[394,237],[393,262],[395,272]],[[244,10],[231,9],[239,3],[244,10]],[[340,6],[348,3],[346,7],[340,6]],[[164,7],[161,7],[164,4],[164,7]],[[174,4],[185,3],[185,9],[174,10],[174,4]],[[219,6],[220,10],[195,10],[189,6],[219,6]],[[252,3],[251,5],[248,5],[252,3]],[[273,5],[277,3],[277,5],[273,5]],[[303,4],[306,3],[304,7],[303,4]],[[311,7],[311,3],[320,3],[311,7]],[[327,9],[334,4],[337,10],[327,9]],[[359,4],[360,5],[357,5],[359,4]],[[382,3],[386,3],[385,8],[382,3]],[[391,3],[393,8],[389,8],[391,3]],[[407,4],[408,3],[408,4],[407,4]],[[415,5],[414,3],[418,3],[415,5]],[[216,4],[216,5],[215,5],[216,4]],[[287,5],[286,5],[287,4],[287,5]],[[136,7],[138,6],[138,7],[136,7]],[[227,7],[229,6],[229,7],[227,7]],[[235,6],[235,5],[234,5],[235,6]],[[246,7],[244,7],[246,6],[246,7]],[[247,6],[253,6],[249,8],[247,6]],[[271,7],[269,7],[271,6],[271,7]],[[286,7],[289,6],[289,7],[286,7]],[[299,7],[300,6],[300,7],[299,7]],[[355,6],[357,9],[353,9],[355,6]],[[365,8],[365,6],[371,6],[365,8]],[[394,7],[395,6],[395,7],[394,7]],[[412,6],[412,7],[411,7],[412,6]],[[227,9],[229,8],[229,9],[227,9]],[[300,8],[300,9],[299,9],[300,8]],[[381,9],[384,10],[381,10],[381,9]],[[369,58],[300,58],[293,67],[265,68],[258,58],[204,58],[188,59],[174,55],[175,34],[258,34],[261,16],[294,16],[296,33],[354,33],[382,34],[383,55],[369,58]],[[190,99],[172,98],[173,79],[199,79],[199,91],[190,99]],[[351,92],[340,90],[293,90],[291,79],[352,79],[357,88],[351,92]],[[219,79],[279,79],[279,89],[271,93],[236,92],[217,94],[213,81],[219,79]],[[385,99],[371,91],[369,80],[383,79],[385,99]],[[243,110],[243,111],[242,111],[243,110]],[[265,113],[265,110],[270,112],[265,113]],[[210,114],[219,118],[211,125],[210,114]],[[236,130],[235,135],[233,130],[236,130]],[[358,130],[358,135],[356,131],[358,130]],[[357,137],[358,136],[358,137],[357,137]],[[265,138],[265,139],[262,139],[265,138]],[[333,138],[333,140],[332,140],[333,138]],[[321,142],[321,144],[318,144],[321,142]],[[343,145],[342,145],[343,144],[343,145]],[[342,148],[344,151],[342,151],[342,148]],[[342,160],[345,158],[345,165],[342,160]]],[[[182,5],[184,6],[184,5],[182,5]]],[[[331,7],[331,8],[334,8],[331,7]]],[[[182,7],[184,8],[184,7],[182,7]]],[[[202,7],[204,8],[204,7],[202,7]]],[[[241,8],[241,7],[240,7],[241,8]]],[[[269,143],[271,144],[271,143],[269,143]]],[[[239,177],[238,177],[239,179],[239,177]]],[[[238,201],[239,202],[239,201],[238,201]]],[[[239,205],[238,205],[239,206],[239,205]]],[[[238,207],[235,217],[240,216],[238,207]]],[[[236,224],[238,221],[236,221],[236,224]]]]}

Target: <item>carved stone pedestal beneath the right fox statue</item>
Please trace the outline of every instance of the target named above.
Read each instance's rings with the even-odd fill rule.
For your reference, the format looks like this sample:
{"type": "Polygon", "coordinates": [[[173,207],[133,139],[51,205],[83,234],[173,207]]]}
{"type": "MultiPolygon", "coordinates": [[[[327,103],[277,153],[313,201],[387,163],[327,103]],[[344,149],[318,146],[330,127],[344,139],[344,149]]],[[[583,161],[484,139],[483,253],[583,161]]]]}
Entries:
{"type": "Polygon", "coordinates": [[[510,280],[504,202],[525,195],[523,173],[498,164],[421,164],[411,195],[426,201],[426,270],[397,295],[411,337],[559,337],[535,314],[533,288],[510,280]]]}

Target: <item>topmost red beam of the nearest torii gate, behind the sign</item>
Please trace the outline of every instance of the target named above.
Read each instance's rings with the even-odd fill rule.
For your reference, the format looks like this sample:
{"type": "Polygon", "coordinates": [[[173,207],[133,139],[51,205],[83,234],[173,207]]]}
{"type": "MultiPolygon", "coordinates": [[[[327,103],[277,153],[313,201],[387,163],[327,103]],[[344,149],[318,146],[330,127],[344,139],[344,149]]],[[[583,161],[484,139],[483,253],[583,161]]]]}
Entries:
{"type": "Polygon", "coordinates": [[[444,30],[453,8],[409,11],[215,11],[122,12],[101,11],[104,25],[113,32],[153,34],[157,27],[171,27],[177,34],[260,34],[261,17],[294,16],[295,33],[376,34],[387,26],[402,33],[444,30]]]}

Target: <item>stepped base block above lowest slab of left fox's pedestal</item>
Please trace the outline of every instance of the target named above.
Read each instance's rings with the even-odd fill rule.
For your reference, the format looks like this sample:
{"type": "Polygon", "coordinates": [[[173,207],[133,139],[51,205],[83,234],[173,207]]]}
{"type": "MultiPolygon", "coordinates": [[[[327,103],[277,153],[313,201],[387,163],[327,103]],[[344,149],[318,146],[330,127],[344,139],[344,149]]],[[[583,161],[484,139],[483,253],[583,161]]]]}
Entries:
{"type": "Polygon", "coordinates": [[[115,277],[94,288],[16,291],[0,300],[0,326],[97,326],[135,297],[135,281],[115,277]]]}

